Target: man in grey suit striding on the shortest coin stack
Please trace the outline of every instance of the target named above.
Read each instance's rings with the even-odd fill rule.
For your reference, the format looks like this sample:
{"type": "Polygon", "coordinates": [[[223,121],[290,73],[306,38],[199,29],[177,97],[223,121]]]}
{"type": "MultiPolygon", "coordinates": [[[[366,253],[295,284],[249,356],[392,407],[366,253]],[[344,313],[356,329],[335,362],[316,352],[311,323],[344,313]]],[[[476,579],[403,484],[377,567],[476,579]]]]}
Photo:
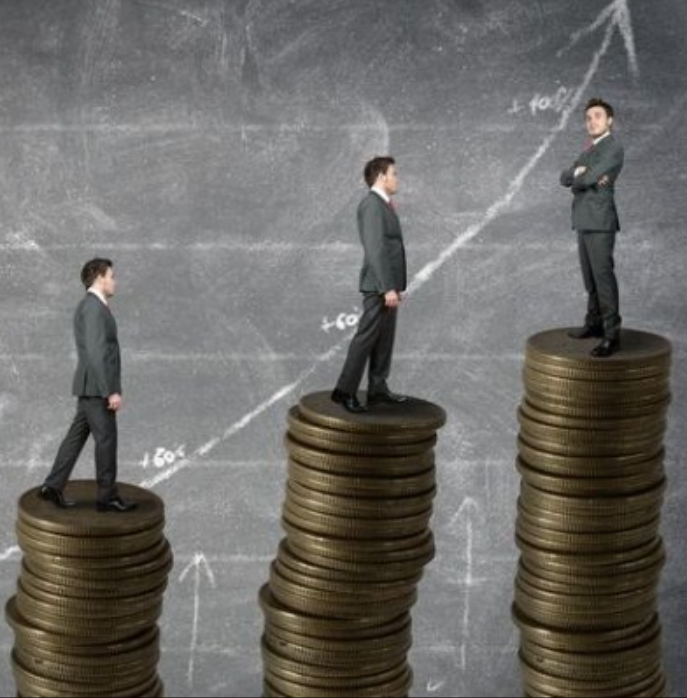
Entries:
{"type": "Polygon", "coordinates": [[[117,494],[117,412],[122,407],[121,358],[117,323],[109,307],[115,278],[109,259],[93,259],[81,271],[86,295],[74,314],[78,366],[73,394],[76,416],[39,496],[61,508],[74,506],[64,488],[90,434],[95,440],[98,511],[127,512],[136,504],[117,494]]]}

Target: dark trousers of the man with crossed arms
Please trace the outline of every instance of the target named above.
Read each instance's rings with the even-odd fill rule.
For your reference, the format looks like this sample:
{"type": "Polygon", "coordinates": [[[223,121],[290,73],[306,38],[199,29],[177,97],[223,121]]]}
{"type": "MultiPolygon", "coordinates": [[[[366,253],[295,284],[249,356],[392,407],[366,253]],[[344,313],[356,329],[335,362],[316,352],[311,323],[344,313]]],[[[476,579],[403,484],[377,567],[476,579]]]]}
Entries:
{"type": "Polygon", "coordinates": [[[577,233],[580,267],[588,294],[586,324],[603,327],[604,337],[617,339],[620,333],[620,297],[615,275],[616,233],[579,231],[577,233]]]}

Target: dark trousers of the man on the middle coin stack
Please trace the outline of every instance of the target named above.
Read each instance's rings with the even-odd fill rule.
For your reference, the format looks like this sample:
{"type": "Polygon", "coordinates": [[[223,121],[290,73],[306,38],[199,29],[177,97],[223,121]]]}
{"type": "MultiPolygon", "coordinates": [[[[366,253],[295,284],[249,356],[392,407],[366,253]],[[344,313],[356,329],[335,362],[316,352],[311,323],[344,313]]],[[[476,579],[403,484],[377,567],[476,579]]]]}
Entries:
{"type": "Polygon", "coordinates": [[[337,382],[344,393],[358,392],[365,367],[368,368],[368,392],[388,392],[387,379],[396,336],[396,308],[388,308],[384,296],[376,293],[363,298],[363,314],[358,331],[351,340],[348,356],[337,382]]]}

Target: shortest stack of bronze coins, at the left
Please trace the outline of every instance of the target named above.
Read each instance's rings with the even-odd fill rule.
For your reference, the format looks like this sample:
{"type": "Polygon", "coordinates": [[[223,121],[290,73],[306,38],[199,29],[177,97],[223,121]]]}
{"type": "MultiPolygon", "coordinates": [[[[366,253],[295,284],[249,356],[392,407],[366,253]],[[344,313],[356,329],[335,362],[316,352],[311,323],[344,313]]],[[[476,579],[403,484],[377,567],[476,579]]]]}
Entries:
{"type": "Polygon", "coordinates": [[[15,634],[19,696],[163,696],[157,621],[172,568],[164,505],[119,485],[138,508],[95,511],[95,483],[70,483],[78,504],[58,509],[37,490],[19,500],[24,553],[5,615],[15,634]]]}

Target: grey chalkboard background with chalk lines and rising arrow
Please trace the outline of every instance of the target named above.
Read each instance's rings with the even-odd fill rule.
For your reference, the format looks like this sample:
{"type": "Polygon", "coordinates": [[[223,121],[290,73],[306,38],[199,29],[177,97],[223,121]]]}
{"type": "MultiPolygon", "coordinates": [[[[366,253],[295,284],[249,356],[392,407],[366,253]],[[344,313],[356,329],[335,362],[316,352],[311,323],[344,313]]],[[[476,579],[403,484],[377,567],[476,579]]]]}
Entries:
{"type": "MultiPolygon", "coordinates": [[[[582,319],[558,173],[602,95],[627,149],[625,323],[675,348],[661,612],[687,695],[686,31],[683,0],[1,0],[2,599],[17,498],[74,409],[79,270],[110,256],[121,479],[164,498],[176,553],[168,695],[261,693],[285,414],[336,379],[359,310],[360,172],[391,152],[413,276],[392,387],[450,415],[414,694],[519,695],[522,353],[582,319]]],[[[93,476],[90,452],[76,475],[93,476]]],[[[2,623],[4,696],[12,641],[2,623]]]]}

